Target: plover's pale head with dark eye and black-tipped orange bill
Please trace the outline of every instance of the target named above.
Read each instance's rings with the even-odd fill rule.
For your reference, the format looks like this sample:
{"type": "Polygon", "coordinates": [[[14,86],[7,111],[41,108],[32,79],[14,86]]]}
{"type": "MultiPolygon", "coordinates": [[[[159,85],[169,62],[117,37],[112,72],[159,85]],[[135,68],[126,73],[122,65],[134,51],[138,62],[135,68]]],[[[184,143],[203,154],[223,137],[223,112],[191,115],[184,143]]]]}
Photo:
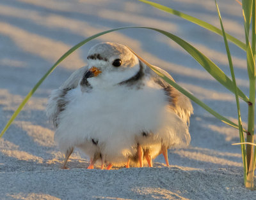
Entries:
{"type": "Polygon", "coordinates": [[[125,82],[141,71],[140,61],[124,45],[99,43],[88,53],[88,71],[82,82],[93,87],[109,87],[125,82]]]}

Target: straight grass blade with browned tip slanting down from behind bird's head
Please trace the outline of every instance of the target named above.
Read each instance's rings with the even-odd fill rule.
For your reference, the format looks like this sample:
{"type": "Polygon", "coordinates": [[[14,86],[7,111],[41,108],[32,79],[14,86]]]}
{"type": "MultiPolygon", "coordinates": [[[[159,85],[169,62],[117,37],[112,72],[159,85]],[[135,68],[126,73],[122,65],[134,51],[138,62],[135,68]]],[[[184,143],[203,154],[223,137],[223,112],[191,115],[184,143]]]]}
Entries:
{"type": "MultiPolygon", "coordinates": [[[[128,47],[128,46],[127,46],[128,47]]],[[[129,48],[129,47],[128,47],[129,48]]],[[[131,50],[131,48],[129,48],[131,50]]],[[[168,78],[167,76],[165,76],[163,73],[161,73],[159,70],[157,70],[157,68],[155,68],[154,66],[152,66],[152,64],[149,64],[147,61],[145,61],[143,58],[140,57],[140,55],[136,54],[133,50],[131,50],[131,52],[133,52],[142,62],[144,62],[148,68],[152,69],[158,76],[160,76],[161,78],[163,78],[164,81],[166,81],[167,83],[169,83],[170,85],[172,85],[175,89],[179,90],[182,94],[184,94],[185,96],[189,97],[189,99],[191,99],[192,101],[194,101],[196,104],[198,104],[199,106],[201,106],[202,108],[204,108],[206,111],[208,111],[209,113],[211,113],[214,117],[218,118],[219,120],[221,120],[222,122],[224,122],[225,124],[228,124],[232,127],[235,127],[236,129],[238,129],[238,125],[231,122],[230,120],[228,120],[227,118],[223,117],[222,115],[220,115],[219,113],[217,113],[216,111],[212,110],[209,106],[207,106],[205,103],[203,103],[202,101],[200,101],[198,98],[196,98],[195,96],[193,96],[190,92],[188,92],[187,90],[185,90],[184,88],[180,87],[180,85],[178,85],[177,83],[173,82],[173,80],[171,80],[170,78],[168,78]]]]}

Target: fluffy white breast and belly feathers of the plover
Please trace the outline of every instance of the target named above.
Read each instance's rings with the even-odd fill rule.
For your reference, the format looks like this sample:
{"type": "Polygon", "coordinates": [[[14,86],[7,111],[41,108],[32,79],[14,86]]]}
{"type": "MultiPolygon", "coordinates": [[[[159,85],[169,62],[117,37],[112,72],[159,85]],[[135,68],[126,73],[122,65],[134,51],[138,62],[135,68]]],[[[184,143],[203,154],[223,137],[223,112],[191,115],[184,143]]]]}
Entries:
{"type": "MultiPolygon", "coordinates": [[[[63,152],[95,139],[106,161],[125,163],[137,143],[149,146],[157,141],[171,147],[190,141],[188,126],[169,108],[163,89],[152,80],[140,90],[118,85],[87,94],[77,87],[66,98],[67,108],[60,113],[54,136],[63,152]],[[142,132],[153,132],[153,139],[141,136],[142,132]]],[[[90,157],[94,154],[85,151],[90,157]]]]}

